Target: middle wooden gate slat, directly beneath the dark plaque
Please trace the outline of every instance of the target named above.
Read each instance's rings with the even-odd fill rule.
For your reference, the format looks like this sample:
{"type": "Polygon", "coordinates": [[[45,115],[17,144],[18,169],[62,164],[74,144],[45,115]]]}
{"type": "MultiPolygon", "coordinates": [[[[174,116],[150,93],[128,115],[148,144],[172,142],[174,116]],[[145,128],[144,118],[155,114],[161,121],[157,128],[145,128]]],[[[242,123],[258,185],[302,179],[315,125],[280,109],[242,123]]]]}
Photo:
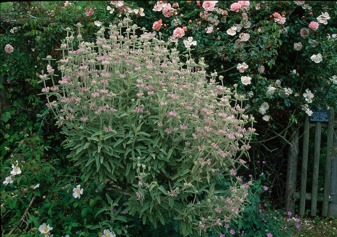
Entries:
{"type": "Polygon", "coordinates": [[[315,127],[315,149],[314,162],[312,170],[312,190],[311,190],[311,216],[316,216],[317,208],[317,189],[318,189],[318,169],[319,169],[319,152],[320,152],[320,136],[321,136],[321,122],[316,122],[315,127]]]}

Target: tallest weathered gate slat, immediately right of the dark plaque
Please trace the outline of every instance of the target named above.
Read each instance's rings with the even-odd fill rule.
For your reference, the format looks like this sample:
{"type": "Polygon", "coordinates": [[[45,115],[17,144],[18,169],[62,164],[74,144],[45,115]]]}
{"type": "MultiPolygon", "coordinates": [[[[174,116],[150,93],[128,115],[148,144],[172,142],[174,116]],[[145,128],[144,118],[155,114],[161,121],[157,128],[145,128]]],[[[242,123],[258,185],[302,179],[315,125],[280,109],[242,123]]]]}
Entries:
{"type": "Polygon", "coordinates": [[[329,207],[329,192],[330,192],[330,178],[331,178],[331,163],[332,163],[332,144],[334,140],[334,117],[335,110],[330,108],[330,120],[328,126],[328,138],[327,138],[327,156],[325,161],[325,174],[324,174],[324,188],[323,188],[323,207],[322,216],[328,216],[329,207]]]}

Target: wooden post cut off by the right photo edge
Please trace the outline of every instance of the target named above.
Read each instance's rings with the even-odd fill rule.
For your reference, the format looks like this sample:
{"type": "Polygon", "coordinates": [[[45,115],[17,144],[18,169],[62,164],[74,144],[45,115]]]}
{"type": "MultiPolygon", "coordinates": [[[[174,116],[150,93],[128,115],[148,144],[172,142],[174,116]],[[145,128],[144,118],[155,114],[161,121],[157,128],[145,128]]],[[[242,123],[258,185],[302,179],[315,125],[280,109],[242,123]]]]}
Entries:
{"type": "MultiPolygon", "coordinates": [[[[337,138],[334,136],[333,148],[337,148],[337,138]]],[[[332,202],[329,203],[329,216],[337,217],[337,150],[332,150],[330,193],[332,202]]]]}

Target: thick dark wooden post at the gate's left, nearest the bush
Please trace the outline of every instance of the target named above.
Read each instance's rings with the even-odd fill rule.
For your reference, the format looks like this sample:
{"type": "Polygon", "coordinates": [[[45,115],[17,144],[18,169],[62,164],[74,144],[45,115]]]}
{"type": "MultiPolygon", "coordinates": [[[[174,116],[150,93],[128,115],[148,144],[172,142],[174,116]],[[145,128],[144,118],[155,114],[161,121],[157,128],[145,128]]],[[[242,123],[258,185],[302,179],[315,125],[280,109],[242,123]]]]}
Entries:
{"type": "Polygon", "coordinates": [[[287,179],[286,179],[286,203],[285,210],[295,215],[295,200],[293,198],[293,193],[296,191],[296,181],[297,181],[297,161],[299,153],[299,129],[297,129],[289,141],[292,146],[289,148],[288,154],[288,165],[287,165],[287,179]]]}

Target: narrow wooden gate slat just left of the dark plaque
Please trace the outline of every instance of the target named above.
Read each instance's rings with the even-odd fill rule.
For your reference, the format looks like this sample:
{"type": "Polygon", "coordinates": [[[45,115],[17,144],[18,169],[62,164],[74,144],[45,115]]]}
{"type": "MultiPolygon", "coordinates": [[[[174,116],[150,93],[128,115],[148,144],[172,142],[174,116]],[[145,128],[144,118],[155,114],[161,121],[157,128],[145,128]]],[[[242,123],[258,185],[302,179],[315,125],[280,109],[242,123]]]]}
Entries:
{"type": "MultiPolygon", "coordinates": [[[[300,189],[300,210],[299,214],[305,212],[305,193],[307,187],[307,167],[308,167],[308,149],[309,149],[309,117],[305,115],[303,129],[303,149],[302,149],[302,168],[301,168],[301,189],[300,189]]],[[[311,200],[311,198],[310,198],[311,200]]]]}

